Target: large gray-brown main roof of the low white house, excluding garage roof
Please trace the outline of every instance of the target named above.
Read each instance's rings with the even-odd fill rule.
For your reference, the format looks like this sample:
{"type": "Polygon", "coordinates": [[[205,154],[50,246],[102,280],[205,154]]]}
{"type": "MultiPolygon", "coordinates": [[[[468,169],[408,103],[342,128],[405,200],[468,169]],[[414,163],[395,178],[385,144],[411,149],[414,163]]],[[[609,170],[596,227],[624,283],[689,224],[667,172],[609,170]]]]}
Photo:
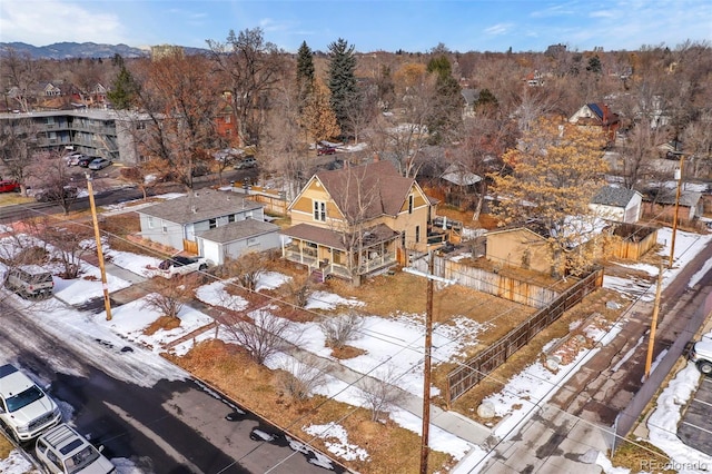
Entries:
{"type": "Polygon", "coordinates": [[[171,223],[191,224],[261,208],[261,204],[247,200],[233,191],[201,189],[149,206],[138,213],[171,223]]]}

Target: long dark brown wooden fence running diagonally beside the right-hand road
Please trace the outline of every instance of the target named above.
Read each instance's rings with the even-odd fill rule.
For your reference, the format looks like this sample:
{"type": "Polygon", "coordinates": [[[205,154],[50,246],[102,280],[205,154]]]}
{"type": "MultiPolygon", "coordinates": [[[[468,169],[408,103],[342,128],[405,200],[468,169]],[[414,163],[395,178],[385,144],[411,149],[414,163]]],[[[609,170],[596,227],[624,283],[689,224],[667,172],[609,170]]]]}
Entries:
{"type": "Polygon", "coordinates": [[[567,309],[601,287],[603,269],[596,269],[563,292],[548,306],[510,330],[493,345],[465,362],[447,375],[447,405],[477,385],[492,371],[504,364],[517,349],[526,345],[542,329],[558,319],[567,309]]]}

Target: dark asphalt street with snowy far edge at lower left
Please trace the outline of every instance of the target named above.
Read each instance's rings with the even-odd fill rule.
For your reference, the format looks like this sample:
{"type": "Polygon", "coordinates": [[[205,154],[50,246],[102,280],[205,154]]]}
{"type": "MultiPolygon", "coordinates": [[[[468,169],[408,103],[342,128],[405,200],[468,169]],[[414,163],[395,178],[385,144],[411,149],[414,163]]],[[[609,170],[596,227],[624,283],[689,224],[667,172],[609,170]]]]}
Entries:
{"type": "Polygon", "coordinates": [[[156,365],[168,363],[137,354],[139,347],[79,333],[37,310],[22,314],[8,302],[0,302],[0,361],[51,381],[48,393],[66,421],[105,445],[109,458],[155,474],[326,472],[313,462],[325,456],[308,446],[294,451],[274,426],[177,367],[182,377],[158,378],[156,365]]]}

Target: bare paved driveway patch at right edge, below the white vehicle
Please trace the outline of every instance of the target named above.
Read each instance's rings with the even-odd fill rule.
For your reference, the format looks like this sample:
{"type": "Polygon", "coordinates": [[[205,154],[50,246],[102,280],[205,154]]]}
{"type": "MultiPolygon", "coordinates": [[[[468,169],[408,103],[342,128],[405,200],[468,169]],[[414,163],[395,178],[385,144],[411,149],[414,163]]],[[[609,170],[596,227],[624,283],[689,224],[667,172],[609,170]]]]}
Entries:
{"type": "Polygon", "coordinates": [[[712,377],[702,376],[700,387],[688,404],[678,437],[690,447],[712,455],[712,377]]]}

